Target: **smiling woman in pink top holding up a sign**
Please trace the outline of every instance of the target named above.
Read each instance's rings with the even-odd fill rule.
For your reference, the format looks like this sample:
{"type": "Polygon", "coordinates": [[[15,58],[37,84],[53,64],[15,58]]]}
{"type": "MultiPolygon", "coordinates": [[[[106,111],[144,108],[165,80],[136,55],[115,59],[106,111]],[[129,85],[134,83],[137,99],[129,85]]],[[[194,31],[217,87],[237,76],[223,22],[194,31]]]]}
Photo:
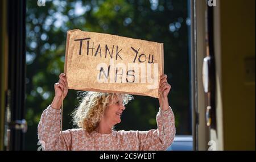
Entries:
{"type": "Polygon", "coordinates": [[[113,126],[121,122],[125,104],[132,97],[127,94],[87,92],[73,113],[73,121],[80,128],[60,132],[61,97],[68,93],[67,77],[60,74],[54,86],[55,97],[43,111],[38,125],[38,138],[46,150],[164,150],[174,140],[174,114],[167,95],[171,86],[167,76],[161,76],[159,103],[156,115],[157,130],[115,131],[113,126]],[[161,102],[160,102],[161,101],[161,102]]]}

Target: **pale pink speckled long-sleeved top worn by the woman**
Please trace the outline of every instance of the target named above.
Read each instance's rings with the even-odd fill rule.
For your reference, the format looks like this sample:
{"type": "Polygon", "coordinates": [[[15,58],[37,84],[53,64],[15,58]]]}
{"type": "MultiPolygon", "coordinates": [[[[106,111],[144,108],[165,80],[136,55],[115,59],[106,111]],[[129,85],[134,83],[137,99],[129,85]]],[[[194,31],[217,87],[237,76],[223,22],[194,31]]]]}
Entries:
{"type": "Polygon", "coordinates": [[[60,112],[48,106],[38,125],[38,139],[45,150],[165,150],[174,141],[172,109],[159,110],[158,129],[149,131],[112,131],[110,134],[71,129],[60,134],[60,112]]]}

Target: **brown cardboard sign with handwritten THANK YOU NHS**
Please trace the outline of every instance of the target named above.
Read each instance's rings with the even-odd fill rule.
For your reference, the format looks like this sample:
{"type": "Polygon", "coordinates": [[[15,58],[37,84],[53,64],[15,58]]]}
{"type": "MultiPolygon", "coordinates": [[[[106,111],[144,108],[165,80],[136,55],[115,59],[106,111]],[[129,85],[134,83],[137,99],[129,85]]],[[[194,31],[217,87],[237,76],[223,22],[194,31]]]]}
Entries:
{"type": "Polygon", "coordinates": [[[69,89],[158,98],[163,43],[71,30],[64,73],[69,89]]]}

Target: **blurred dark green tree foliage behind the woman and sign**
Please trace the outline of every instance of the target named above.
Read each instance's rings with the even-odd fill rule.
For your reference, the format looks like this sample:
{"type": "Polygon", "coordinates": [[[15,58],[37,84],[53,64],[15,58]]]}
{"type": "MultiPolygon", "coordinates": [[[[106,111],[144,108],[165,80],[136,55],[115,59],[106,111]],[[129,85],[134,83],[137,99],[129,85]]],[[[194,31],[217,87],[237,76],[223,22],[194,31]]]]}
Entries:
{"type": "MultiPolygon", "coordinates": [[[[38,146],[37,126],[51,104],[53,84],[64,69],[68,30],[103,32],[164,43],[164,73],[172,85],[169,102],[175,113],[177,134],[191,134],[189,115],[187,1],[27,1],[26,149],[38,146]]],[[[117,130],[156,128],[158,99],[134,96],[126,106],[117,130]]],[[[78,106],[77,91],[64,100],[63,129],[72,128],[70,114],[78,106]]]]}

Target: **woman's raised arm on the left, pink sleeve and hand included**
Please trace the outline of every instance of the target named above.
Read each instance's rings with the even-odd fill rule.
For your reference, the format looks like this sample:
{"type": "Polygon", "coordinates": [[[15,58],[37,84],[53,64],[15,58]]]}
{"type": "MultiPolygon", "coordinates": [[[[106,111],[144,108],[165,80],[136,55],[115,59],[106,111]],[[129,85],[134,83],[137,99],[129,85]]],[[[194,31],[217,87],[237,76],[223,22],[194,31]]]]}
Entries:
{"type": "Polygon", "coordinates": [[[38,124],[38,139],[45,150],[68,150],[71,147],[71,134],[60,130],[60,106],[68,93],[67,76],[61,73],[59,81],[54,85],[55,97],[52,104],[43,111],[38,124]],[[63,94],[62,94],[63,93],[63,94]]]}

